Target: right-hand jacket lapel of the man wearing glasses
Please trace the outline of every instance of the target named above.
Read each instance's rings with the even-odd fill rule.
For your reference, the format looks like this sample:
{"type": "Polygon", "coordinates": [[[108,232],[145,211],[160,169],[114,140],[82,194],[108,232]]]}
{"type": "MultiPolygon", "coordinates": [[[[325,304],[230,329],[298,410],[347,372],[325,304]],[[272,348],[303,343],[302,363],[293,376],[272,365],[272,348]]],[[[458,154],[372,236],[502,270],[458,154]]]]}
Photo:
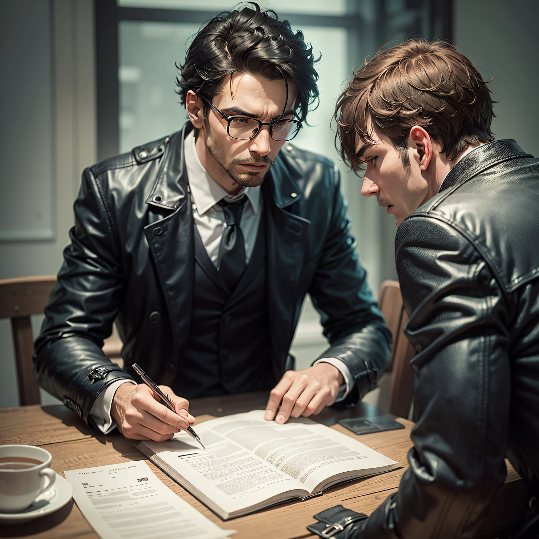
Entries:
{"type": "Polygon", "coordinates": [[[270,174],[262,189],[267,216],[269,328],[273,371],[279,380],[285,371],[294,333],[298,282],[310,222],[286,209],[303,196],[294,181],[293,171],[277,158],[270,174]]]}

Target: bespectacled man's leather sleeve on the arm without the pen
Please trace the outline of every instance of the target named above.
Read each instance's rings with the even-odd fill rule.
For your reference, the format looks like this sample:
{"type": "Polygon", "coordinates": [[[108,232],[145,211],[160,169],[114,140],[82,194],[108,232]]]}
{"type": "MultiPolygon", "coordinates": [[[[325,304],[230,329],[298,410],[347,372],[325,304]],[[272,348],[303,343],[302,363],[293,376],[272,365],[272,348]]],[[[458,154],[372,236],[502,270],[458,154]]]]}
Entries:
{"type": "Polygon", "coordinates": [[[355,388],[337,404],[340,407],[357,404],[376,387],[388,363],[391,343],[357,255],[357,241],[350,234],[347,210],[336,171],[331,223],[309,294],[331,344],[320,357],[338,358],[355,378],[355,388]]]}

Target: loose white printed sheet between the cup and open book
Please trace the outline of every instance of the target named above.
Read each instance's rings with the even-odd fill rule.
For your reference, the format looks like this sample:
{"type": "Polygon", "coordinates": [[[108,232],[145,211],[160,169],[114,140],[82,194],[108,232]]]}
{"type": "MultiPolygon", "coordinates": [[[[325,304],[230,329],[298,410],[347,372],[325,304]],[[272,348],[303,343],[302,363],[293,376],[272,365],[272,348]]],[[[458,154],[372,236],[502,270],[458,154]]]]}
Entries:
{"type": "Polygon", "coordinates": [[[163,485],[143,460],[64,473],[77,506],[101,539],[224,539],[235,533],[163,485]]]}

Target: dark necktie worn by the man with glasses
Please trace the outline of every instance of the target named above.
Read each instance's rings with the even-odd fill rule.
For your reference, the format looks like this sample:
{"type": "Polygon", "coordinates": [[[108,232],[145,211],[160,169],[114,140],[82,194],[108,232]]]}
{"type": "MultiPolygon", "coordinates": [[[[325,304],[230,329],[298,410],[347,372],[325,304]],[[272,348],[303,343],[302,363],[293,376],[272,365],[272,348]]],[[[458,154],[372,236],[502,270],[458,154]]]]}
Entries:
{"type": "Polygon", "coordinates": [[[217,271],[231,293],[236,289],[245,270],[245,242],[239,224],[246,201],[247,197],[244,195],[234,202],[218,202],[225,212],[226,227],[219,245],[217,271]]]}

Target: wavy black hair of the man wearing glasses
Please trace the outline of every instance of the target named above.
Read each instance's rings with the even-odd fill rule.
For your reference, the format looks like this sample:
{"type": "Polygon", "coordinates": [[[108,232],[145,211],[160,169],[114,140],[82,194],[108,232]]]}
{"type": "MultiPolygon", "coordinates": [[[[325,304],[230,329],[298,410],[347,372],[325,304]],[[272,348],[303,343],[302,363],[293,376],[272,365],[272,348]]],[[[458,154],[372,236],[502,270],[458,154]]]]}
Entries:
{"type": "Polygon", "coordinates": [[[299,30],[294,33],[287,20],[249,3],[252,9],[219,13],[198,31],[185,63],[176,65],[176,93],[184,106],[189,90],[211,99],[226,75],[234,72],[293,80],[298,90],[296,115],[303,121],[319,96],[314,64],[320,58],[314,59],[313,47],[305,43],[299,30]]]}

